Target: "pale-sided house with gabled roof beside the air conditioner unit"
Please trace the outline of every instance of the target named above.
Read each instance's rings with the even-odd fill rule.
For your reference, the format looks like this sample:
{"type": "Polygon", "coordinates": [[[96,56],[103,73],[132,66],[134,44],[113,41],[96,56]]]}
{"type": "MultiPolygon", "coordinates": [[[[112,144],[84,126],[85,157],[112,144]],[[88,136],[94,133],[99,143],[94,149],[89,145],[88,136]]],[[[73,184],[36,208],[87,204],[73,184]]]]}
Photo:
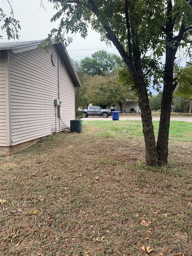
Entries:
{"type": "Polygon", "coordinates": [[[73,64],[63,44],[46,53],[37,48],[40,42],[0,45],[0,155],[64,131],[75,119],[81,83],[73,64]]]}

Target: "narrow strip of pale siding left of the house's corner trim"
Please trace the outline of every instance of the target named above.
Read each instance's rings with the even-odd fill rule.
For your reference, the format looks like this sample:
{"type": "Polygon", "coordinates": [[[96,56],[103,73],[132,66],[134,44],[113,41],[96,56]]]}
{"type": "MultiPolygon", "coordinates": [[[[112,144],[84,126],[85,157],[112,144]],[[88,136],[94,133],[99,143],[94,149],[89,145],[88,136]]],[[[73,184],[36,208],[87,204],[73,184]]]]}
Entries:
{"type": "Polygon", "coordinates": [[[0,146],[7,146],[5,58],[0,56],[0,146]]]}

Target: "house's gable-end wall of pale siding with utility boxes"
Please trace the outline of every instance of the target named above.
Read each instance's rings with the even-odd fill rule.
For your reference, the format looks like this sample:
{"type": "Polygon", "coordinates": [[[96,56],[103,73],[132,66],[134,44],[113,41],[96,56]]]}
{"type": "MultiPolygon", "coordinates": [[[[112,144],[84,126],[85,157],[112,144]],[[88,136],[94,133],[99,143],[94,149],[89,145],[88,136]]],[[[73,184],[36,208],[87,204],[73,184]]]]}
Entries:
{"type": "MultiPolygon", "coordinates": [[[[57,61],[52,64],[51,54],[57,55],[55,46],[21,53],[10,52],[10,106],[12,145],[24,143],[63,131],[54,100],[63,100],[61,119],[66,126],[75,118],[74,83],[66,66],[57,61]],[[58,76],[59,75],[59,76],[58,76]],[[59,82],[59,90],[58,90],[59,82]]],[[[58,59],[57,59],[58,60],[58,59]]]]}

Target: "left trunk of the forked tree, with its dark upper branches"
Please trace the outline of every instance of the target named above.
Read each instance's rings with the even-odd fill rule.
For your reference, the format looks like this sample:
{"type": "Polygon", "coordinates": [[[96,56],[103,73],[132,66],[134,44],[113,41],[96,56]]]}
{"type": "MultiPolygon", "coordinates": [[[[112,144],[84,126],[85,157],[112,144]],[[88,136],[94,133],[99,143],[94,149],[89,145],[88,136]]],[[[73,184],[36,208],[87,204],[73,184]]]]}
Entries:
{"type": "MultiPolygon", "coordinates": [[[[99,10],[93,1],[88,1],[92,6],[92,11],[97,17],[99,17],[99,10]]],[[[139,38],[137,35],[137,29],[135,29],[137,24],[137,14],[135,11],[135,5],[133,1],[125,1],[125,13],[126,13],[126,22],[128,28],[128,45],[129,45],[129,54],[126,53],[125,49],[120,44],[119,40],[113,34],[112,30],[107,24],[103,24],[105,29],[106,37],[113,42],[119,51],[122,59],[129,68],[131,76],[133,77],[135,86],[137,88],[139,106],[141,110],[141,119],[143,123],[143,134],[145,140],[145,149],[146,149],[146,165],[153,166],[157,163],[157,149],[155,143],[155,135],[153,131],[152,124],[152,115],[151,109],[149,107],[148,93],[143,77],[143,69],[141,64],[141,53],[139,46],[139,38]],[[130,15],[128,14],[130,11],[130,15]],[[132,39],[131,39],[132,36],[132,39]],[[133,54],[131,50],[131,41],[134,41],[133,44],[133,54]],[[134,59],[134,61],[133,61],[134,59]]]]}

